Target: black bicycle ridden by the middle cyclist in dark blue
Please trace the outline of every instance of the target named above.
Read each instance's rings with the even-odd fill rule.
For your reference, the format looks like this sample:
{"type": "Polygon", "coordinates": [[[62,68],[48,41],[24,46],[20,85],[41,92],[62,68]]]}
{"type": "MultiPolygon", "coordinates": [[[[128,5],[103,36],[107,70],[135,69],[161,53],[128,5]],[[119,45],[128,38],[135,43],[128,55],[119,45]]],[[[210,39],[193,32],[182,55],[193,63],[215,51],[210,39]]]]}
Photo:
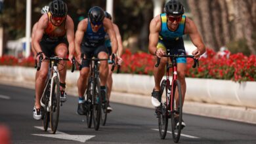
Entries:
{"type": "MultiPolygon", "coordinates": [[[[81,54],[81,60],[83,60],[84,54],[81,54]]],[[[112,55],[112,60],[115,56],[112,55]]],[[[108,59],[98,59],[98,58],[86,58],[85,60],[90,61],[90,74],[87,81],[87,90],[85,92],[85,109],[87,109],[85,115],[87,120],[87,127],[91,128],[92,120],[95,130],[98,130],[100,126],[100,120],[103,118],[101,115],[102,105],[105,107],[106,101],[102,103],[102,98],[100,94],[100,75],[99,75],[99,63],[100,61],[108,59]]],[[[81,70],[81,65],[79,65],[79,70],[81,70]]],[[[114,70],[114,65],[112,66],[112,71],[114,70]]],[[[104,96],[106,98],[106,96],[104,96]]],[[[106,98],[107,99],[107,98],[106,98]]],[[[104,108],[105,109],[105,108],[104,108]]],[[[106,123],[106,111],[104,112],[104,118],[102,119],[106,123]]]]}

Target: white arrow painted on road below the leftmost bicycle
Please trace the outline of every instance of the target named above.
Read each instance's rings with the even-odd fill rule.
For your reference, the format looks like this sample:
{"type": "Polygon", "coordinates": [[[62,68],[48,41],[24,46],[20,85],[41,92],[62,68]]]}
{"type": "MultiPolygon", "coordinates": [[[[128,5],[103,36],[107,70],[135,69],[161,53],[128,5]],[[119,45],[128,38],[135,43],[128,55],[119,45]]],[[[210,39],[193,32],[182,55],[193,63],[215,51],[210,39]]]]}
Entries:
{"type": "MultiPolygon", "coordinates": [[[[43,126],[35,126],[35,128],[43,130],[43,126]]],[[[50,130],[48,130],[48,132],[50,132],[50,130]]],[[[38,135],[43,137],[53,137],[57,139],[68,139],[72,141],[79,141],[82,143],[85,143],[85,141],[87,141],[88,139],[95,137],[95,135],[70,135],[70,134],[65,134],[64,132],[59,132],[59,131],[56,131],[55,134],[32,134],[32,135],[38,135]]]]}

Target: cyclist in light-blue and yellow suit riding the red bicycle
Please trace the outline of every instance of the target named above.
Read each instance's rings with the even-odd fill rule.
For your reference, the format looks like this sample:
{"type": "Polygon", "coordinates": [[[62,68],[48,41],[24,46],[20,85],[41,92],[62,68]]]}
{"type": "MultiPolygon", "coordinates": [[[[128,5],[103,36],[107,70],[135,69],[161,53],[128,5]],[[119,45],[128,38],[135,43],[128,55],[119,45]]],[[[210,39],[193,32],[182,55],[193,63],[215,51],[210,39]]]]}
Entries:
{"type": "MultiPolygon", "coordinates": [[[[184,7],[177,0],[168,1],[164,8],[165,13],[162,13],[150,22],[150,35],[149,35],[149,52],[161,58],[160,65],[154,67],[154,80],[155,86],[152,92],[152,105],[159,107],[161,105],[160,96],[160,82],[165,73],[165,64],[167,58],[162,58],[166,54],[167,49],[171,50],[171,54],[185,55],[184,42],[182,35],[188,34],[192,43],[197,47],[192,52],[195,58],[205,52],[205,45],[202,42],[200,33],[196,25],[190,19],[184,16],[184,7]]],[[[184,103],[184,96],[186,92],[186,58],[178,58],[178,79],[181,82],[182,103],[184,103]]],[[[178,98],[175,98],[178,99],[178,98]]],[[[177,117],[178,118],[178,117],[177,117]]],[[[179,126],[179,122],[177,122],[179,126]]],[[[182,128],[186,126],[182,120],[182,128]]]]}

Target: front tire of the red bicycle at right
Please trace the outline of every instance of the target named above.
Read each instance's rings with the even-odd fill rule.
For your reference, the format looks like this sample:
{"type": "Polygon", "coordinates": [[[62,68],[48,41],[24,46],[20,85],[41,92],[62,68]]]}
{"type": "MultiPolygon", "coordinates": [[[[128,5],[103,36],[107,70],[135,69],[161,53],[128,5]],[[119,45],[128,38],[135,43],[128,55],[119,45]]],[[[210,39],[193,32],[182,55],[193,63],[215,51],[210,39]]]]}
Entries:
{"type": "Polygon", "coordinates": [[[172,87],[172,91],[173,94],[173,101],[172,102],[172,109],[174,110],[173,112],[171,112],[171,133],[173,135],[173,141],[175,143],[178,143],[180,137],[181,137],[181,129],[182,129],[182,93],[181,93],[181,82],[179,82],[179,80],[175,80],[173,81],[173,87],[172,87]],[[176,103],[175,101],[175,93],[177,96],[177,92],[179,93],[179,101],[176,103]],[[179,107],[176,107],[177,104],[179,103],[179,107]],[[177,117],[177,115],[179,115],[179,127],[176,128],[176,124],[177,121],[175,120],[175,117],[177,117]]]}

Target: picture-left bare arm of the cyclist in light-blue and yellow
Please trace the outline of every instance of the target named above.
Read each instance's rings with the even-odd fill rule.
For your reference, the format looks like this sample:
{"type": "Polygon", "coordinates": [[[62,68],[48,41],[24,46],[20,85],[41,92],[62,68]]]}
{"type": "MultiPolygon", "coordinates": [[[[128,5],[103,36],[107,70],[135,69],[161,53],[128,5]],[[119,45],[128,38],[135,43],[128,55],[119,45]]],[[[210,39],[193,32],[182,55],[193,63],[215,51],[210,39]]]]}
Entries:
{"type": "Polygon", "coordinates": [[[160,19],[160,16],[156,16],[150,22],[148,51],[152,55],[156,55],[156,46],[158,45],[158,37],[159,37],[160,29],[161,29],[161,19],[160,19]]]}

